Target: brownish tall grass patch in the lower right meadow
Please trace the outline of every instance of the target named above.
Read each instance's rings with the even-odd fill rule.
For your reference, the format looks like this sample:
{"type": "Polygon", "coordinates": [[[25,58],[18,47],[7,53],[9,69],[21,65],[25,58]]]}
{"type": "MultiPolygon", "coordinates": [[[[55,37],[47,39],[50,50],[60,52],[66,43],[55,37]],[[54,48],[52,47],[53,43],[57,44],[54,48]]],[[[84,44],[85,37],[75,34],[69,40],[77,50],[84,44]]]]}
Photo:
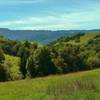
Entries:
{"type": "Polygon", "coordinates": [[[66,82],[51,84],[47,88],[47,93],[52,98],[51,100],[71,100],[76,93],[81,93],[83,91],[89,93],[88,95],[85,94],[87,95],[85,100],[92,100],[90,93],[95,94],[99,92],[94,82],[83,82],[81,80],[75,80],[70,84],[66,82]]]}

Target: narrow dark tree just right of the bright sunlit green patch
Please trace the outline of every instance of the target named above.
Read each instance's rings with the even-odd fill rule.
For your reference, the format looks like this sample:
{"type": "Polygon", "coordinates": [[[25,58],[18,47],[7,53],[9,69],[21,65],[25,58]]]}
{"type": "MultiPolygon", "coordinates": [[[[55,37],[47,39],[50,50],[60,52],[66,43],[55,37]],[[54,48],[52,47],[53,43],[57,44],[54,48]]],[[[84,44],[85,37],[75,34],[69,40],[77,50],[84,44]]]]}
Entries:
{"type": "Polygon", "coordinates": [[[23,75],[23,78],[26,78],[26,74],[27,74],[27,69],[26,69],[26,63],[27,60],[30,56],[30,54],[32,54],[32,52],[35,51],[35,49],[37,49],[37,44],[31,44],[28,41],[25,41],[23,46],[20,47],[19,52],[18,52],[18,56],[21,58],[21,64],[20,64],[20,71],[23,75]]]}

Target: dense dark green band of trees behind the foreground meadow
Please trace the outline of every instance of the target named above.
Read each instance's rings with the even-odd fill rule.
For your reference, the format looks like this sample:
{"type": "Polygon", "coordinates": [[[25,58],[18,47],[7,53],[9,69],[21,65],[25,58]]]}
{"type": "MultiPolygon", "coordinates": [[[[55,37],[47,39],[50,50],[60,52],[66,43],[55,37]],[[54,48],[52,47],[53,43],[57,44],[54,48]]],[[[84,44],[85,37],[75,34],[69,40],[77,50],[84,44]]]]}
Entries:
{"type": "MultiPolygon", "coordinates": [[[[70,38],[79,41],[83,35],[70,38]]],[[[9,69],[4,65],[4,54],[20,57],[19,68],[23,79],[100,67],[99,35],[80,45],[68,44],[66,40],[67,38],[45,46],[28,41],[6,41],[0,49],[0,81],[10,80],[9,69]]]]}

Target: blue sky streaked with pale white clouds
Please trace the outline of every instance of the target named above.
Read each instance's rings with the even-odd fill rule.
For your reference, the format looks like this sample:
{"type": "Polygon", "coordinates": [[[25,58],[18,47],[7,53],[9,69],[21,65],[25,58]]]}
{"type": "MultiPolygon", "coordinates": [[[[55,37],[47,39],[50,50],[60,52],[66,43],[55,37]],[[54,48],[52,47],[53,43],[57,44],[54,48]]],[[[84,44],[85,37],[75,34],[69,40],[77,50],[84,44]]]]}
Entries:
{"type": "Polygon", "coordinates": [[[0,28],[100,29],[100,0],[0,0],[0,28]]]}

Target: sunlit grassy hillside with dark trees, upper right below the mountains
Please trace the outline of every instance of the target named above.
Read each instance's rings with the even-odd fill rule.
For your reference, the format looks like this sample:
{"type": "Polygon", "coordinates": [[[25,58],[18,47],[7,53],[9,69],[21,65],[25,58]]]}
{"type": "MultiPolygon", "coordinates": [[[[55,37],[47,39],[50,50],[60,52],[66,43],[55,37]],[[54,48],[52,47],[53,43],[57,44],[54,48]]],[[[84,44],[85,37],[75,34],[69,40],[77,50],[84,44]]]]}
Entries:
{"type": "Polygon", "coordinates": [[[65,37],[59,38],[54,43],[81,45],[81,44],[87,43],[90,40],[94,40],[96,36],[100,36],[100,32],[85,33],[82,35],[78,34],[78,35],[73,35],[73,36],[65,36],[65,37]]]}

